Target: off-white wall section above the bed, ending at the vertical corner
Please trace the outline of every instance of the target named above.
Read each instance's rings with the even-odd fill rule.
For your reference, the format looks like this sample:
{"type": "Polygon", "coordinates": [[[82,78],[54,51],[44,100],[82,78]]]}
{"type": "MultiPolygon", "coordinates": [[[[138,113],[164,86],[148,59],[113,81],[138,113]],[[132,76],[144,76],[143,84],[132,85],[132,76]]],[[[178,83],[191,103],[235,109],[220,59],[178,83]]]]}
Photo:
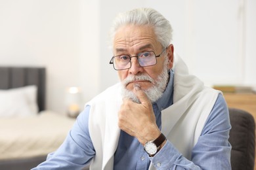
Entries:
{"type": "Polygon", "coordinates": [[[0,65],[47,68],[47,109],[64,112],[66,88],[98,93],[98,1],[0,0],[0,65]]]}

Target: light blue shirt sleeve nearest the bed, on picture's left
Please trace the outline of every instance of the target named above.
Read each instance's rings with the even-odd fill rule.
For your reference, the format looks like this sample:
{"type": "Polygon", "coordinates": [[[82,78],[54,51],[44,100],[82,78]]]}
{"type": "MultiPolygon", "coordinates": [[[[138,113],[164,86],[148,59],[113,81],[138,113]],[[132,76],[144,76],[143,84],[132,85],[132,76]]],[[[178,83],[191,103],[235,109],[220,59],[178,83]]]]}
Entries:
{"type": "Polygon", "coordinates": [[[82,169],[89,165],[95,150],[89,135],[89,110],[87,106],[77,116],[74,126],[68,133],[64,143],[47,156],[47,160],[35,169],[82,169]]]}

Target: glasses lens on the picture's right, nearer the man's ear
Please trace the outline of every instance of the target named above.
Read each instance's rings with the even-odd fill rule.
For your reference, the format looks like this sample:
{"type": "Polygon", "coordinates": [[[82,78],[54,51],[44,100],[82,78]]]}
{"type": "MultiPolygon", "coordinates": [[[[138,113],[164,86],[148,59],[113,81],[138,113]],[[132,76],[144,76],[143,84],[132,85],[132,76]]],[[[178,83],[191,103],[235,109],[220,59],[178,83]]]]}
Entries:
{"type": "Polygon", "coordinates": [[[150,66],[156,64],[156,54],[154,52],[142,52],[138,55],[140,66],[150,66]]]}

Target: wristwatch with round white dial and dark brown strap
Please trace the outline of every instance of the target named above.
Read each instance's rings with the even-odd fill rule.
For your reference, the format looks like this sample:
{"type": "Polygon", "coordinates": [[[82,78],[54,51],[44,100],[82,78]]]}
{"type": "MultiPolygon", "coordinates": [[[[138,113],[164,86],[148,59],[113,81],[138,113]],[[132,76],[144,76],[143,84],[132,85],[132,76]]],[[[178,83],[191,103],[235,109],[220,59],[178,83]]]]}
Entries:
{"type": "Polygon", "coordinates": [[[144,144],[144,150],[150,155],[154,156],[158,149],[160,148],[160,145],[165,141],[166,137],[161,133],[161,135],[155,139],[154,141],[148,141],[146,144],[144,144]]]}

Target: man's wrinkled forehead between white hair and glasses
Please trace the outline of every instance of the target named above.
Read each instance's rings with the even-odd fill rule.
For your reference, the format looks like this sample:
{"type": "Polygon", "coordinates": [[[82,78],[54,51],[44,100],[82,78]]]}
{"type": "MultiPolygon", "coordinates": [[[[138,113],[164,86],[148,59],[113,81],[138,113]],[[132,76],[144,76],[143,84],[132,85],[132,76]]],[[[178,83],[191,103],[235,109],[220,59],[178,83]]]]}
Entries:
{"type": "Polygon", "coordinates": [[[156,50],[160,43],[154,29],[148,25],[125,25],[119,27],[114,37],[114,51],[156,50]]]}

